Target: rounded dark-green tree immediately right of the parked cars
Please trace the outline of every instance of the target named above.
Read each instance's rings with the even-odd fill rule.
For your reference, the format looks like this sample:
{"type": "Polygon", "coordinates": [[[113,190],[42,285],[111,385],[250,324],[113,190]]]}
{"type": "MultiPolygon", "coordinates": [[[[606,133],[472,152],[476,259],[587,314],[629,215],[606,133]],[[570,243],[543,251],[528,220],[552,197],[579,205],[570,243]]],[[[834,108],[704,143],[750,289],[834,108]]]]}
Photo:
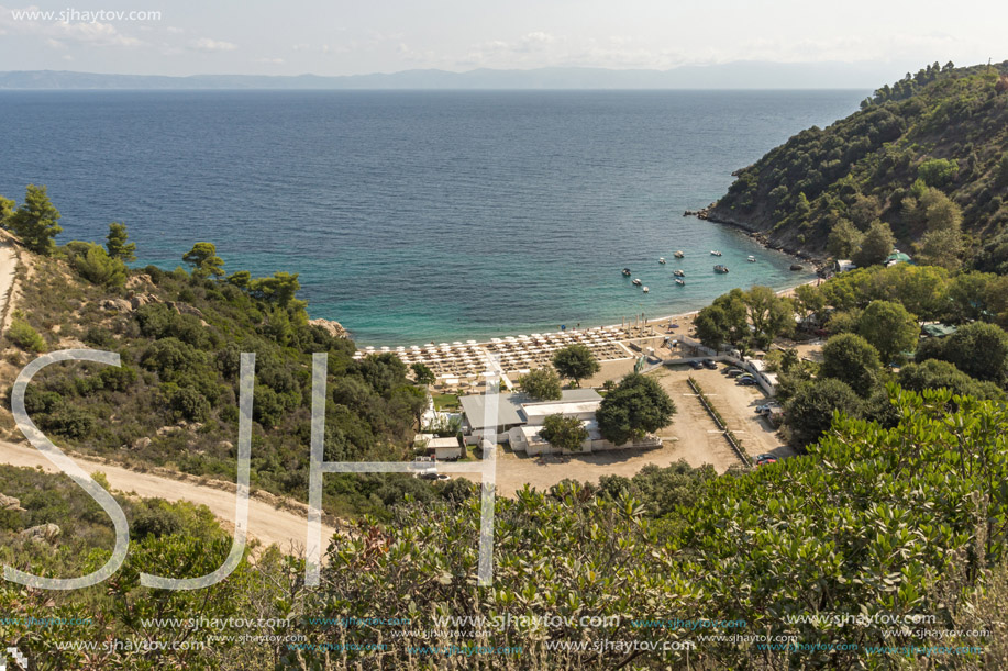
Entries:
{"type": "Polygon", "coordinates": [[[834,412],[860,417],[862,401],[845,382],[824,378],[801,384],[784,407],[790,444],[804,449],[830,428],[834,412]]]}

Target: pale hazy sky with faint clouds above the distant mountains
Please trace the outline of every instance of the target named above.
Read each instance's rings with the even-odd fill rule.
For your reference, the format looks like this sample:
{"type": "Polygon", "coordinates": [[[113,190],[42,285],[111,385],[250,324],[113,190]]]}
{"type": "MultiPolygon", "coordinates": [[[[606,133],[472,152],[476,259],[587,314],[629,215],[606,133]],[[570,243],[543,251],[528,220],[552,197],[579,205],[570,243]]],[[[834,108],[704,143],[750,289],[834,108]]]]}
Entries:
{"type": "Polygon", "coordinates": [[[0,5],[0,70],[353,75],[769,60],[873,61],[898,77],[934,60],[1004,60],[1006,25],[1008,3],[976,0],[64,0],[0,5]]]}

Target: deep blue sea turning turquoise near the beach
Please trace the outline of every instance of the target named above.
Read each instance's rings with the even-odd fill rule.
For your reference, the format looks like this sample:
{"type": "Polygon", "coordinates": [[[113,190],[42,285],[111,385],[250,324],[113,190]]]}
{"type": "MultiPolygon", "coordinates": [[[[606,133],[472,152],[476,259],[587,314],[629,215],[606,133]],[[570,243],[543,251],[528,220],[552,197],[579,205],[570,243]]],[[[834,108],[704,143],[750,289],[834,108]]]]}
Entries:
{"type": "Polygon", "coordinates": [[[683,211],[864,94],[4,91],[0,193],[47,184],[60,242],[125,222],[140,265],[208,241],[229,271],[299,272],[312,316],[361,344],[611,324],[797,283],[788,257],[683,211]]]}

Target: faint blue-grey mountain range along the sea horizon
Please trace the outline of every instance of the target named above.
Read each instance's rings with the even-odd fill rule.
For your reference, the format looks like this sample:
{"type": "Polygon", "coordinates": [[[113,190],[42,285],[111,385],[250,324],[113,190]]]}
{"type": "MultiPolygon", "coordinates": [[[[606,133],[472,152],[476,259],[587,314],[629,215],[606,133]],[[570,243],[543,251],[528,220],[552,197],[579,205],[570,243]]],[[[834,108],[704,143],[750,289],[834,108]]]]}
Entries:
{"type": "MultiPolygon", "coordinates": [[[[740,61],[671,70],[539,68],[405,70],[392,74],[317,75],[101,75],[58,70],[0,72],[0,89],[871,89],[893,80],[901,65],[740,61]]],[[[916,67],[915,67],[916,69],[916,67]]]]}

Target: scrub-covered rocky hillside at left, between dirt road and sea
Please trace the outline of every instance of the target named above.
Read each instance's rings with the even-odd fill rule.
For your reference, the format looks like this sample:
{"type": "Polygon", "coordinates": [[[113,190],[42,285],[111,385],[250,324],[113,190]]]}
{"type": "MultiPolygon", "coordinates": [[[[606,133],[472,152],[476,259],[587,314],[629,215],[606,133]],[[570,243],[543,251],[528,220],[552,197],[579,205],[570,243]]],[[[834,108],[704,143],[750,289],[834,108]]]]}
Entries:
{"type": "MultiPolygon", "coordinates": [[[[233,482],[240,353],[255,353],[252,484],[307,500],[311,355],[328,353],[325,458],[411,458],[425,391],[395,356],[354,361],[352,340],[310,324],[297,275],[225,275],[210,243],[185,255],[188,268],[132,269],[125,260],[135,248],[121,224],[106,245],[60,246],[44,188],[30,187],[20,208],[4,202],[7,227],[34,232],[35,250],[24,251],[4,337],[8,385],[45,351],[87,347],[122,359],[121,368],[59,364],[36,376],[26,409],[58,445],[233,482]]],[[[0,420],[20,438],[9,413],[0,420]]],[[[405,491],[428,490],[405,476],[330,476],[326,508],[380,513],[405,491]]]]}

